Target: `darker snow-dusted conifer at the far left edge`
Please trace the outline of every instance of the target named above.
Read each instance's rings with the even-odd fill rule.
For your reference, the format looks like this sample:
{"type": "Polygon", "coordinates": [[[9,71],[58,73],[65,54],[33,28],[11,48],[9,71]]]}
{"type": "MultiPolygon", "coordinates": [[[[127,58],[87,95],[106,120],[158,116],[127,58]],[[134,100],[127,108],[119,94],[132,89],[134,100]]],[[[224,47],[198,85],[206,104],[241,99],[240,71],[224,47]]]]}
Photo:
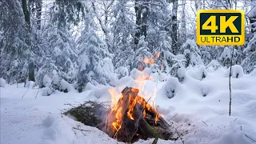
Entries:
{"type": "Polygon", "coordinates": [[[0,2],[0,77],[8,83],[26,82],[28,65],[33,60],[29,26],[18,0],[0,2]]]}

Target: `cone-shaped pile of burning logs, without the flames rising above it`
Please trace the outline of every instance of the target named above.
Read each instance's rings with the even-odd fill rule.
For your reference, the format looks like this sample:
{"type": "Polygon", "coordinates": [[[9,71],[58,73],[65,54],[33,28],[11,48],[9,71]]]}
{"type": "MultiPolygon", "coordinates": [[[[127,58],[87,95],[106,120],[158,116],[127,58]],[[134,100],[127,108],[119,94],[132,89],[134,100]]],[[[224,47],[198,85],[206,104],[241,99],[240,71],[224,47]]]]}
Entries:
{"type": "Polygon", "coordinates": [[[172,139],[169,124],[138,96],[138,89],[126,87],[106,121],[98,128],[122,142],[135,142],[138,138],[172,139]]]}

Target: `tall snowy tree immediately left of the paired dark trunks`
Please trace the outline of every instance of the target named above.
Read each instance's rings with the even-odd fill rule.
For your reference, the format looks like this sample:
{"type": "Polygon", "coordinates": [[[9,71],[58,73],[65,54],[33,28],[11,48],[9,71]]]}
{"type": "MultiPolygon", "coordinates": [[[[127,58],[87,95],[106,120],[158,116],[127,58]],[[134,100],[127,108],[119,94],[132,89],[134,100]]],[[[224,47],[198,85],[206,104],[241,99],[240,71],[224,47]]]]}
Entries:
{"type": "Polygon", "coordinates": [[[115,20],[110,23],[113,34],[113,63],[116,68],[126,66],[128,70],[133,69],[135,24],[131,17],[129,1],[121,0],[114,3],[112,8],[115,20]]]}

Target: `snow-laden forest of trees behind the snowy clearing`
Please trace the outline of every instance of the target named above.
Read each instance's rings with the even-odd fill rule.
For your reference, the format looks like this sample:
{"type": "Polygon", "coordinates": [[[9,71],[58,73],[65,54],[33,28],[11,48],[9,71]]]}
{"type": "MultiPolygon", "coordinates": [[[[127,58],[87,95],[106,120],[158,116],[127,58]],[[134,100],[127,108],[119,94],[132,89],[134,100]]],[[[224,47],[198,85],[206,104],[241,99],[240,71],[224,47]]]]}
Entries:
{"type": "Polygon", "coordinates": [[[256,1],[2,0],[0,17],[0,78],[46,95],[66,83],[115,86],[146,68],[181,80],[188,66],[256,66],[256,1]],[[196,13],[207,9],[244,10],[245,45],[198,46],[196,13]]]}

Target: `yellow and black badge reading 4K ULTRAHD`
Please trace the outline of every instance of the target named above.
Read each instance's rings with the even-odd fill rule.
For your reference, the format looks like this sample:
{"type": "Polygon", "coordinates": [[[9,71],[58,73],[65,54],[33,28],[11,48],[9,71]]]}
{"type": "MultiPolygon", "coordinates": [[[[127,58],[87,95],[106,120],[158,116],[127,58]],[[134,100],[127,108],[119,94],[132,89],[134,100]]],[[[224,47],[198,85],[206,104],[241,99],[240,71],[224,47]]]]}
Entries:
{"type": "Polygon", "coordinates": [[[198,45],[243,45],[244,15],[242,10],[198,10],[198,45]]]}

